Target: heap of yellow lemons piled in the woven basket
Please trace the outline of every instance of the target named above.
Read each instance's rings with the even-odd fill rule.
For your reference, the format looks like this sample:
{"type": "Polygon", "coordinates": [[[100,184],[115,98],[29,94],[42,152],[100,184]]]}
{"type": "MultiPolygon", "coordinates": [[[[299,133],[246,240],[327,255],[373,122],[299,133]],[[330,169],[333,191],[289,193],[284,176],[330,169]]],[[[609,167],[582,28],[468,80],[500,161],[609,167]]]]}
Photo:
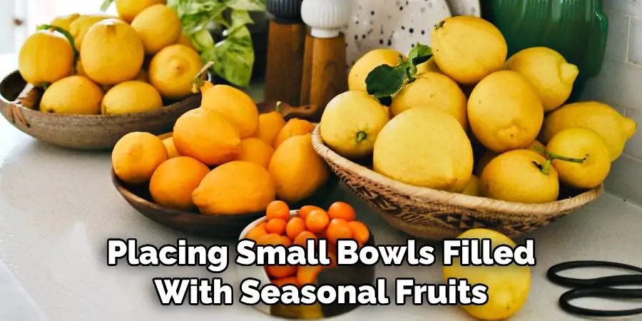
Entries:
{"type": "Polygon", "coordinates": [[[432,58],[383,106],[367,93],[368,76],[397,66],[399,56],[407,59],[376,49],[352,66],[350,91],[328,104],[321,136],[340,155],[371,158],[373,170],[402,183],[552,202],[601,185],[636,132],[632,119],[604,103],[566,103],[579,70],[561,54],[536,47],[506,59],[504,36],[478,17],[437,24],[432,58]]]}

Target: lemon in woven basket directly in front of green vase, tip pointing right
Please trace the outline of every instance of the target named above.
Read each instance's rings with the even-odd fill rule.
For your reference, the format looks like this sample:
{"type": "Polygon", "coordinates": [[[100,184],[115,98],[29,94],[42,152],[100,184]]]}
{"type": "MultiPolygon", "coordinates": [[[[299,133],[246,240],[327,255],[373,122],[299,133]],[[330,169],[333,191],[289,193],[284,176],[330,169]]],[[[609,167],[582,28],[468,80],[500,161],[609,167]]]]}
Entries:
{"type": "Polygon", "coordinates": [[[546,113],[569,99],[579,74],[577,66],[546,47],[519,51],[506,61],[505,68],[521,74],[534,86],[546,113]]]}

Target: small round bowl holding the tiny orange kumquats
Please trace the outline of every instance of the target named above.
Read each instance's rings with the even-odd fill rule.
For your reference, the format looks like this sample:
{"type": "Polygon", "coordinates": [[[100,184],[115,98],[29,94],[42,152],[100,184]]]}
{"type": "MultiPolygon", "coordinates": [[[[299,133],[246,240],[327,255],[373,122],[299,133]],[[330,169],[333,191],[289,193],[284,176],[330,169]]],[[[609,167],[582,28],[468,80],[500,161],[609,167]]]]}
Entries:
{"type": "MultiPolygon", "coordinates": [[[[299,212],[298,210],[291,210],[290,217],[297,215],[298,212],[299,212]]],[[[245,235],[247,235],[248,232],[250,232],[250,230],[260,225],[261,223],[265,222],[265,220],[266,218],[265,216],[263,216],[262,218],[255,220],[253,223],[250,223],[250,225],[248,225],[240,233],[238,240],[243,240],[243,238],[245,238],[245,235]]],[[[366,245],[371,245],[371,246],[374,245],[374,235],[372,235],[372,231],[370,231],[370,239],[368,240],[366,245]]],[[[257,280],[260,280],[262,285],[270,282],[270,277],[267,276],[267,273],[265,273],[265,268],[262,266],[236,265],[236,272],[238,275],[238,280],[245,280],[250,277],[253,277],[257,280]]],[[[339,266],[339,267],[327,268],[325,270],[322,270],[322,272],[320,272],[319,275],[317,276],[317,284],[332,285],[332,286],[347,285],[347,284],[373,285],[374,272],[375,272],[374,265],[363,265],[361,263],[357,263],[355,265],[350,265],[350,266],[339,266]]],[[[287,305],[270,306],[270,305],[265,305],[263,302],[259,303],[258,305],[254,305],[254,307],[257,310],[260,310],[261,312],[267,313],[268,315],[275,315],[277,317],[290,317],[290,318],[292,318],[293,315],[296,315],[297,310],[299,309],[305,310],[305,309],[314,308],[314,307],[305,306],[305,305],[301,305],[297,307],[292,307],[287,305]],[[284,315],[286,313],[287,315],[284,315]]],[[[344,313],[355,310],[357,307],[358,305],[336,305],[336,304],[320,305],[323,317],[335,317],[337,315],[342,315],[344,313]]],[[[301,312],[299,311],[299,313],[301,312]]],[[[305,314],[305,312],[303,313],[305,314]]]]}

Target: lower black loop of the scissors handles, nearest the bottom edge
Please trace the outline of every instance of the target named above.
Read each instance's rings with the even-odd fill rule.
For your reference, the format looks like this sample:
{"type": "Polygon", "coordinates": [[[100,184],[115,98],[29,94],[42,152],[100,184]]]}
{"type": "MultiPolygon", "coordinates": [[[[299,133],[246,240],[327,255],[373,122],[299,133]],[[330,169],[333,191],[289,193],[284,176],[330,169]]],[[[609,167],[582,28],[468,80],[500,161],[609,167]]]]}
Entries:
{"type": "MultiPolygon", "coordinates": [[[[633,275],[637,276],[637,275],[633,275]]],[[[571,300],[581,297],[601,297],[606,299],[642,299],[642,290],[613,289],[611,287],[577,288],[565,292],[559,297],[559,307],[575,315],[587,317],[626,317],[628,315],[642,314],[642,307],[630,310],[593,310],[586,307],[571,305],[571,300]]]]}

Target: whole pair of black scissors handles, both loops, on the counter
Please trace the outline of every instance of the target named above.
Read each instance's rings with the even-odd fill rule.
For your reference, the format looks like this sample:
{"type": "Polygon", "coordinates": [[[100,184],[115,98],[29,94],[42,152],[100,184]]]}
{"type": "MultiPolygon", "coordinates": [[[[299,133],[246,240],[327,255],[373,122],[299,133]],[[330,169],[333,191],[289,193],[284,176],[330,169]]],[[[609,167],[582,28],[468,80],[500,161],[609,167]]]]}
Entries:
{"type": "Polygon", "coordinates": [[[606,261],[571,261],[553,265],[546,272],[546,278],[556,285],[572,287],[559,297],[559,306],[562,310],[574,315],[588,317],[625,317],[628,315],[642,314],[642,307],[631,310],[593,310],[571,305],[571,300],[581,297],[600,297],[606,299],[642,299],[642,287],[636,289],[621,289],[621,286],[642,286],[642,268],[622,263],[606,261]],[[578,279],[563,277],[559,272],[581,267],[613,267],[617,269],[638,272],[639,274],[613,275],[596,277],[592,279],[578,279]]]}

